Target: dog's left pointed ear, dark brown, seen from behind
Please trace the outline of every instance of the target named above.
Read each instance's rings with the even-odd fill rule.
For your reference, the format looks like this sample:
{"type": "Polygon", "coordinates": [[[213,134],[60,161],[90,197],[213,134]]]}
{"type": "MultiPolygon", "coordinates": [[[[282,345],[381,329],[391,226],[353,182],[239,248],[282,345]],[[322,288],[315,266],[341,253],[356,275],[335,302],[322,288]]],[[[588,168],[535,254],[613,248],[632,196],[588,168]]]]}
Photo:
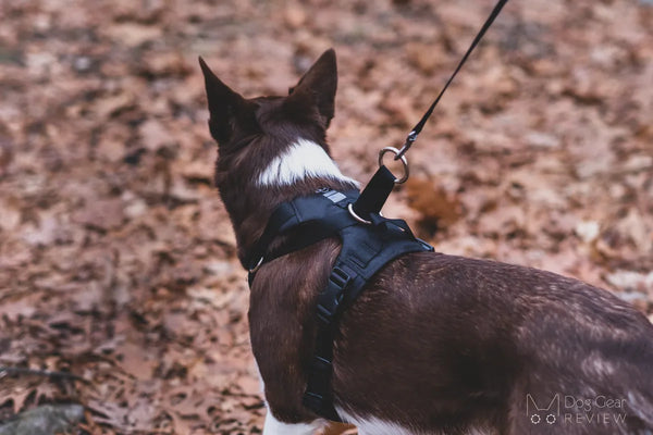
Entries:
{"type": "Polygon", "coordinates": [[[219,144],[230,139],[235,122],[246,105],[246,100],[234,92],[213,74],[204,59],[199,58],[199,66],[205,76],[207,100],[209,102],[209,129],[219,144]]]}

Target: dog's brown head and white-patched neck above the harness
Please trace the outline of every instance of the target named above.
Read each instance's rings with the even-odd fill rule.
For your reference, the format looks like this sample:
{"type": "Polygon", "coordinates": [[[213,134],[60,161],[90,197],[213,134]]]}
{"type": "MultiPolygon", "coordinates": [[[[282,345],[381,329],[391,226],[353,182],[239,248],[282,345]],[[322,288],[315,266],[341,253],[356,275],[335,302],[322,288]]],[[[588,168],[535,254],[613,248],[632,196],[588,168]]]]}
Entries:
{"type": "Polygon", "coordinates": [[[352,188],[329,156],[326,128],[337,87],[335,52],[325,51],[284,97],[246,99],[200,58],[209,128],[218,141],[215,185],[239,248],[260,235],[280,202],[319,187],[352,188]]]}

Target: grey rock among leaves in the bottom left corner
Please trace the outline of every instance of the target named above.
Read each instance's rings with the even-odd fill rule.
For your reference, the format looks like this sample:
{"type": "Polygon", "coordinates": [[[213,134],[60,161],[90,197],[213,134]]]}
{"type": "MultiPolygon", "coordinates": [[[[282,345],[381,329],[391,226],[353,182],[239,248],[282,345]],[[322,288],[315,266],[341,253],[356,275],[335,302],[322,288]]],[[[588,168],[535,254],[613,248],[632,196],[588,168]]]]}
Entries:
{"type": "Polygon", "coordinates": [[[54,435],[84,419],[81,405],[44,405],[0,425],[0,435],[54,435]]]}

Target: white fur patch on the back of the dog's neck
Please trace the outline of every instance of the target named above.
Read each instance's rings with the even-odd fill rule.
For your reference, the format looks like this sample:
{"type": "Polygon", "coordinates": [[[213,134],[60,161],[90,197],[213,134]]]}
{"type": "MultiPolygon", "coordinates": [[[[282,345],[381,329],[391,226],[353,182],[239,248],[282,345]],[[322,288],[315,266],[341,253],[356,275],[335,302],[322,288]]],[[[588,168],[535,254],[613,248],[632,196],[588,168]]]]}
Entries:
{"type": "Polygon", "coordinates": [[[326,151],[312,140],[297,139],[281,156],[275,157],[258,176],[259,186],[287,186],[305,178],[332,178],[358,182],[344,176],[326,151]]]}

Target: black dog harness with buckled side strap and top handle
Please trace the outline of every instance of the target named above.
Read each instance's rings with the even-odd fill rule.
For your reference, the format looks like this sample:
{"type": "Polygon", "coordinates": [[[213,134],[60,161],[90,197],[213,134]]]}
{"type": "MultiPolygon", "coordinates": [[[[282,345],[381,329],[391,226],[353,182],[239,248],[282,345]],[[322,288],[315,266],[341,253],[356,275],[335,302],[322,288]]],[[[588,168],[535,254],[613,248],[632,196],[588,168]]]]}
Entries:
{"type": "MultiPolygon", "coordinates": [[[[387,171],[379,176],[385,178],[385,186],[394,182],[392,174],[389,174],[387,171]]],[[[303,399],[308,409],[332,421],[341,421],[333,405],[331,388],[333,341],[337,336],[340,318],[387,262],[408,252],[433,251],[429,244],[412,235],[405,221],[386,219],[379,213],[387,194],[374,188],[383,185],[383,181],[373,182],[374,178],[362,194],[358,190],[323,188],[315,195],[282,203],[272,213],[262,236],[243,261],[243,265],[250,271],[248,281],[251,286],[261,264],[329,237],[341,239],[341,252],[326,287],[318,296],[316,345],[307,366],[308,380],[303,399]],[[360,215],[365,215],[365,219],[354,210],[362,211],[360,215]],[[269,249],[275,237],[291,231],[293,233],[287,244],[274,250],[269,249]]]]}

